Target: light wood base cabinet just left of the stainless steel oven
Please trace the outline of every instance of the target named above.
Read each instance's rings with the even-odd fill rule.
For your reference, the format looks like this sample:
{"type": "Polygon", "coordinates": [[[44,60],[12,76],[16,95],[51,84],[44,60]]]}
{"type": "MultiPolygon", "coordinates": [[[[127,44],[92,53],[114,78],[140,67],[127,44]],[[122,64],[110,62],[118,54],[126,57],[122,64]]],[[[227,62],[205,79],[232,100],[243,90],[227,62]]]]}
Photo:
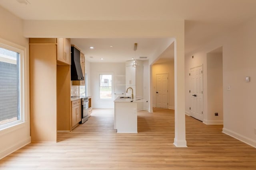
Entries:
{"type": "Polygon", "coordinates": [[[81,99],[75,100],[71,102],[72,111],[71,111],[71,126],[74,129],[78,126],[79,122],[81,121],[81,99]]]}

